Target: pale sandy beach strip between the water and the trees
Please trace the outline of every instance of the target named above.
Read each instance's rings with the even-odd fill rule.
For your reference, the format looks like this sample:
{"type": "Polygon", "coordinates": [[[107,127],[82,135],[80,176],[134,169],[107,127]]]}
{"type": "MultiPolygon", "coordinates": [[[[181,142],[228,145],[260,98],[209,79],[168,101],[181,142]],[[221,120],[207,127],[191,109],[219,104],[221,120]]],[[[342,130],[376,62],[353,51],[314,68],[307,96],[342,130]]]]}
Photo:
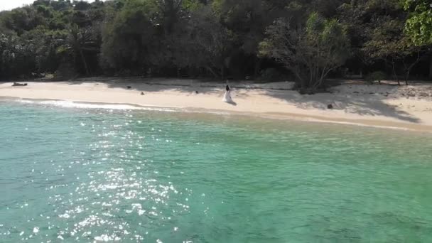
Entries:
{"type": "Polygon", "coordinates": [[[225,82],[175,79],[87,78],[68,82],[0,84],[0,97],[171,107],[274,119],[301,119],[432,131],[432,87],[344,82],[328,93],[300,95],[293,82],[230,82],[235,104],[222,102],[225,82]],[[333,109],[328,109],[331,104],[333,109]]]}

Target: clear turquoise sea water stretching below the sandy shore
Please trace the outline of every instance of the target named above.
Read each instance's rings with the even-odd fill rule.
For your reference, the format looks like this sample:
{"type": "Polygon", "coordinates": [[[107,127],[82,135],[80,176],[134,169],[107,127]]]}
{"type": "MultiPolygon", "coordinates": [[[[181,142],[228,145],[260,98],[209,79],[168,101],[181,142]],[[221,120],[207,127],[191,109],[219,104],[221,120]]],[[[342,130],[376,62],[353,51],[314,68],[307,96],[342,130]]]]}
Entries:
{"type": "Polygon", "coordinates": [[[432,136],[0,102],[0,242],[432,242],[432,136]]]}

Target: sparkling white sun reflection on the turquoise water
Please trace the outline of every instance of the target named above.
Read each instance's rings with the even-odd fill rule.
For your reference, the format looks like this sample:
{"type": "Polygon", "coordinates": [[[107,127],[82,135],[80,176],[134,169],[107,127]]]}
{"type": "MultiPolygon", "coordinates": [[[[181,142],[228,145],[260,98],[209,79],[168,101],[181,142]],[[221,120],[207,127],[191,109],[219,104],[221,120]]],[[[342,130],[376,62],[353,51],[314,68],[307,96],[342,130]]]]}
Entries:
{"type": "MultiPolygon", "coordinates": [[[[74,193],[59,193],[50,197],[55,212],[58,212],[57,217],[66,223],[63,227],[57,226],[58,239],[92,239],[96,242],[130,239],[140,242],[148,232],[141,234],[136,225],[129,225],[130,218],[137,220],[138,226],[142,227],[143,223],[148,225],[171,220],[167,212],[188,212],[188,198],[177,202],[175,195],[183,196],[183,193],[171,182],[161,183],[158,177],[166,175],[161,175],[161,171],[151,171],[153,159],[145,158],[145,154],[140,152],[146,149],[146,134],[121,130],[123,126],[131,124],[133,121],[111,125],[103,121],[99,126],[93,125],[92,132],[104,139],[89,144],[87,152],[77,151],[81,156],[90,153],[90,159],[71,161],[68,167],[58,165],[56,172],[66,175],[81,166],[87,167],[88,171],[87,175],[75,175],[75,179],[69,183],[58,183],[47,188],[56,191],[75,185],[74,193]],[[165,207],[171,210],[163,210],[165,207]],[[76,222],[72,226],[67,223],[70,219],[76,222]]],[[[142,124],[142,121],[137,124],[142,124]]],[[[162,132],[155,128],[151,131],[162,132]]],[[[151,139],[161,141],[156,134],[151,134],[151,139]]],[[[163,141],[173,143],[168,138],[163,141]]],[[[55,225],[50,225],[50,228],[55,229],[55,225]]],[[[173,232],[178,232],[178,227],[174,227],[173,232]]],[[[158,239],[157,242],[162,241],[158,239]]]]}

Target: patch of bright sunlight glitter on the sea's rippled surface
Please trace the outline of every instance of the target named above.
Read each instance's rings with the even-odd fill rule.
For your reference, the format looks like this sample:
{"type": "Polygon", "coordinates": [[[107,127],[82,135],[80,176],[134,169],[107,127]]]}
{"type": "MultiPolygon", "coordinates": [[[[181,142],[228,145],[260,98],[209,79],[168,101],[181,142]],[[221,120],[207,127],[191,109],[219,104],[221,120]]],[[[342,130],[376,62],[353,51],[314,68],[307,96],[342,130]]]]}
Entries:
{"type": "MultiPolygon", "coordinates": [[[[131,115],[128,117],[131,117],[131,115]]],[[[75,171],[75,173],[72,173],[75,180],[69,183],[50,185],[46,189],[52,191],[51,194],[53,194],[48,200],[49,205],[54,208],[53,212],[57,213],[58,219],[63,219],[66,222],[66,227],[60,227],[60,225],[64,225],[61,222],[58,225],[52,225],[48,222],[49,229],[58,229],[58,239],[79,240],[80,237],[85,239],[93,237],[96,241],[141,240],[144,239],[143,235],[136,230],[130,229],[127,222],[112,220],[114,215],[152,217],[152,222],[158,221],[158,219],[161,221],[170,219],[169,216],[163,215],[158,205],[168,205],[167,200],[170,198],[170,193],[178,194],[178,190],[175,190],[171,182],[163,185],[158,183],[156,179],[148,178],[152,174],[157,175],[158,171],[147,173],[141,170],[141,167],[145,167],[146,163],[152,161],[134,161],[134,156],[139,156],[140,153],[139,151],[129,151],[129,148],[135,146],[143,148],[145,136],[137,136],[136,132],[128,130],[120,133],[119,129],[122,129],[122,126],[128,126],[129,122],[123,125],[112,124],[110,126],[95,126],[93,124],[92,133],[107,138],[107,140],[89,144],[90,152],[72,148],[73,154],[79,155],[79,157],[88,155],[90,158],[79,158],[64,166],[62,164],[56,165],[54,161],[50,161],[54,169],[53,173],[57,175],[63,177],[65,174],[70,175],[72,171],[75,171]],[[112,139],[115,141],[112,141],[112,139]],[[112,156],[113,149],[117,151],[117,153],[114,153],[115,156],[112,156]],[[118,167],[132,162],[136,164],[130,169],[126,170],[118,167]],[[107,164],[112,167],[102,169],[102,165],[107,164]],[[85,169],[85,171],[90,171],[87,175],[80,172],[82,166],[89,167],[85,169]],[[145,177],[143,177],[144,174],[145,177]],[[85,182],[80,183],[80,181],[85,182]],[[61,193],[63,188],[75,189],[71,190],[71,193],[61,193]],[[99,201],[95,201],[95,197],[99,201]],[[141,203],[146,205],[146,210],[143,209],[141,203]],[[126,206],[128,204],[129,206],[126,206]],[[122,208],[119,209],[118,205],[122,205],[122,208]],[[97,207],[102,207],[102,210],[97,207]],[[68,224],[71,219],[77,222],[73,226],[68,224]],[[92,233],[95,228],[103,227],[112,228],[115,233],[97,236],[92,233]]],[[[82,124],[85,123],[80,122],[79,125],[82,126],[82,124]]],[[[107,124],[107,122],[102,121],[102,124],[107,124]]],[[[161,132],[161,130],[156,132],[161,132]]],[[[151,138],[152,140],[158,139],[156,134],[152,134],[151,138]]],[[[33,168],[32,173],[35,173],[35,170],[36,173],[41,175],[50,173],[49,169],[38,171],[38,167],[33,168]]],[[[180,212],[185,205],[179,204],[179,207],[179,209],[173,209],[173,212],[180,212]]],[[[141,225],[141,222],[139,225],[141,225]]],[[[38,227],[35,227],[33,233],[36,234],[38,229],[38,227]]],[[[21,233],[21,235],[24,234],[25,232],[21,233]]],[[[31,237],[33,237],[32,234],[22,239],[28,240],[31,237]]]]}

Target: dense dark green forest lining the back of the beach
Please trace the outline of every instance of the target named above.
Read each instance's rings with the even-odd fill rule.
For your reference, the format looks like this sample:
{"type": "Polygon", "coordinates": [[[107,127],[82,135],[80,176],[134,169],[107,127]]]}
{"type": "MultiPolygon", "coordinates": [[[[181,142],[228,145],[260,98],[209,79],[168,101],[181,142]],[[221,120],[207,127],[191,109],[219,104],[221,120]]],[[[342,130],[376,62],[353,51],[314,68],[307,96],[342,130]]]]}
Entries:
{"type": "Polygon", "coordinates": [[[0,12],[0,79],[432,79],[428,0],[38,0],[0,12]]]}

